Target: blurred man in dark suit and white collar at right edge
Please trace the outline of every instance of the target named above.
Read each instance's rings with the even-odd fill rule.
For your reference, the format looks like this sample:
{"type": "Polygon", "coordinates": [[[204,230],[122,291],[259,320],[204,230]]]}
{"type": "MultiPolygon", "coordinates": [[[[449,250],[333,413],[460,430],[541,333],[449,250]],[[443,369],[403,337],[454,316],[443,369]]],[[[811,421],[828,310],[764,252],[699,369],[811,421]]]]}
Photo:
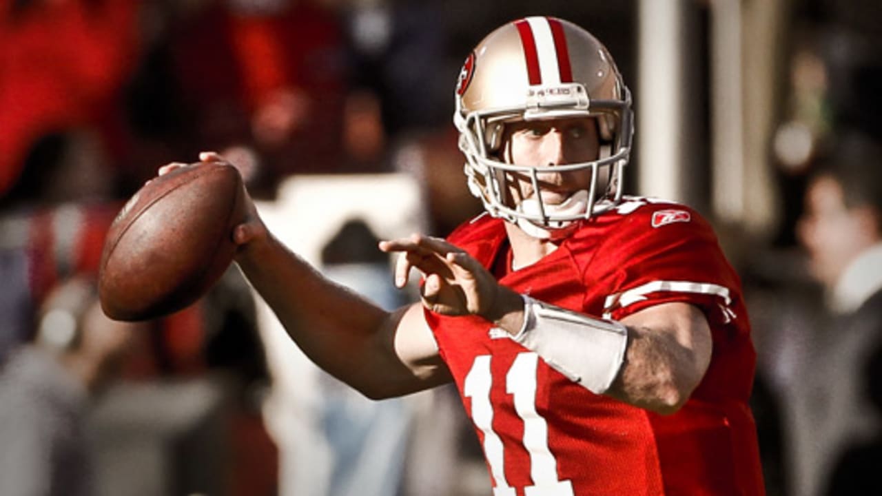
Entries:
{"type": "MultiPolygon", "coordinates": [[[[882,342],[882,146],[843,132],[805,193],[797,235],[829,320],[800,351],[790,454],[796,494],[826,486],[849,443],[878,432],[864,370],[882,342]]],[[[818,322],[815,322],[818,325],[818,322]]]]}

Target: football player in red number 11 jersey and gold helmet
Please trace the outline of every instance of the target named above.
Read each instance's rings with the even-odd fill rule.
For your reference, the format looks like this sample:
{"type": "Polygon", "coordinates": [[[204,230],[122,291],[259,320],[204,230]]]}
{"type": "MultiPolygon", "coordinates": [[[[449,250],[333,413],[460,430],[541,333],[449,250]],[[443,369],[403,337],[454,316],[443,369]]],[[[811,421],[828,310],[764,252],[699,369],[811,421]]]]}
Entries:
{"type": "Polygon", "coordinates": [[[631,96],[607,49],[513,21],[467,56],[455,101],[486,212],[379,244],[396,284],[422,275],[420,302],[385,312],[327,281],[253,206],[235,228],[291,338],[371,398],[455,381],[495,496],[762,494],[740,282],[697,212],[624,195],[631,96]]]}

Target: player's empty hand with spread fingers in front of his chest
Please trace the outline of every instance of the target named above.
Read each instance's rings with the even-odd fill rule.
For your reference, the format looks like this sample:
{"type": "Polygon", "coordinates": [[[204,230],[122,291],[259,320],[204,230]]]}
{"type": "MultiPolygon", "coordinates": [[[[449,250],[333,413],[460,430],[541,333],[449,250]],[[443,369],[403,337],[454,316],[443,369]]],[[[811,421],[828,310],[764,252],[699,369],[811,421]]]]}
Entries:
{"type": "Polygon", "coordinates": [[[476,259],[457,246],[437,237],[413,235],[381,241],[380,250],[401,252],[395,265],[395,285],[403,288],[411,268],[422,274],[422,304],[444,315],[480,315],[490,319],[496,313],[502,286],[476,259]]]}

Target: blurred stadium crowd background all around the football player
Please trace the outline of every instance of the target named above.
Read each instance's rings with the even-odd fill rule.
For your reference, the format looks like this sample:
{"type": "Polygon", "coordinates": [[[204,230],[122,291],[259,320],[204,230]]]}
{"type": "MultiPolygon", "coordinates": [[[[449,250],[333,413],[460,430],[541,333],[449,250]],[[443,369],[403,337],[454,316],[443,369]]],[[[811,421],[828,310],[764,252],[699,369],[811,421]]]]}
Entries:
{"type": "Polygon", "coordinates": [[[414,297],[376,239],[480,211],[453,87],[538,14],[631,87],[628,191],[698,208],[742,275],[768,493],[875,492],[878,0],[0,0],[0,494],[489,494],[455,391],[358,397],[235,268],[122,333],[94,276],[125,199],[215,150],[316,267],[414,297]]]}

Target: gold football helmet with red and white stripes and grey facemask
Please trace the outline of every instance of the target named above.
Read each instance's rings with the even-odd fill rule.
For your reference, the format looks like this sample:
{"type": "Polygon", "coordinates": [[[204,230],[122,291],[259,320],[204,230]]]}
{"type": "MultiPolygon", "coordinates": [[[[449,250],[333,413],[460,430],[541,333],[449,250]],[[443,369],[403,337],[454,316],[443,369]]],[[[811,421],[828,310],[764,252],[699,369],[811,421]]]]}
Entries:
{"type": "MultiPolygon", "coordinates": [[[[546,18],[531,18],[546,19],[546,18]]],[[[523,21],[520,21],[523,22],[523,21]]],[[[535,22],[535,20],[533,21],[535,22]]],[[[590,69],[592,78],[583,83],[577,71],[573,71],[572,82],[552,81],[550,84],[527,84],[526,78],[518,93],[504,95],[496,101],[507,105],[492,105],[494,98],[487,95],[495,94],[497,88],[505,84],[505,74],[493,66],[495,61],[484,63],[494,51],[504,52],[505,63],[523,63],[518,59],[519,47],[506,47],[512,44],[512,36],[505,33],[511,29],[512,23],[497,29],[479,44],[472,56],[469,56],[464,73],[460,75],[460,87],[456,95],[456,111],[453,121],[460,131],[460,150],[466,155],[465,173],[469,190],[482,200],[484,208],[493,216],[501,217],[509,222],[517,223],[522,229],[534,237],[564,236],[567,231],[577,226],[579,221],[587,220],[593,215],[602,214],[615,207],[623,195],[624,166],[631,154],[632,110],[631,95],[618,75],[611,57],[602,48],[599,41],[578,26],[548,19],[564,26],[569,42],[587,42],[586,47],[570,53],[588,53],[598,61],[579,60],[572,65],[577,69],[590,69]],[[495,36],[496,34],[499,34],[495,36]],[[508,39],[506,39],[506,37],[508,39]],[[590,50],[590,49],[593,49],[590,50]],[[512,56],[512,51],[514,55],[512,56]],[[481,55],[479,55],[481,54],[481,55]],[[482,57],[484,57],[482,59],[482,57]],[[482,67],[490,65],[490,68],[482,67]],[[485,68],[487,72],[481,73],[485,68]],[[466,71],[468,71],[466,73],[466,71]],[[474,74],[473,74],[474,71],[474,74]],[[595,76],[603,76],[597,79],[595,76]],[[588,86],[594,86],[593,89],[588,86]],[[475,89],[470,89],[478,85],[475,89]],[[485,86],[481,88],[480,86],[485,86]],[[480,97],[474,94],[480,91],[480,97]],[[594,98],[592,98],[594,94],[594,98]],[[477,103],[476,103],[477,102],[477,103]],[[517,121],[549,120],[572,117],[593,117],[597,123],[599,134],[600,156],[590,162],[566,163],[563,165],[513,164],[502,159],[500,149],[503,147],[505,124],[517,121]],[[547,205],[539,194],[542,174],[547,173],[586,173],[591,180],[584,192],[574,193],[561,205],[547,205]],[[512,174],[527,177],[532,183],[535,199],[514,205],[507,199],[506,175],[512,174]]],[[[579,48],[579,47],[574,47],[579,48]]],[[[588,70],[584,70],[587,72],[588,70]]],[[[508,79],[511,78],[511,74],[508,79]]],[[[509,85],[517,85],[517,81],[507,81],[509,85]]]]}

